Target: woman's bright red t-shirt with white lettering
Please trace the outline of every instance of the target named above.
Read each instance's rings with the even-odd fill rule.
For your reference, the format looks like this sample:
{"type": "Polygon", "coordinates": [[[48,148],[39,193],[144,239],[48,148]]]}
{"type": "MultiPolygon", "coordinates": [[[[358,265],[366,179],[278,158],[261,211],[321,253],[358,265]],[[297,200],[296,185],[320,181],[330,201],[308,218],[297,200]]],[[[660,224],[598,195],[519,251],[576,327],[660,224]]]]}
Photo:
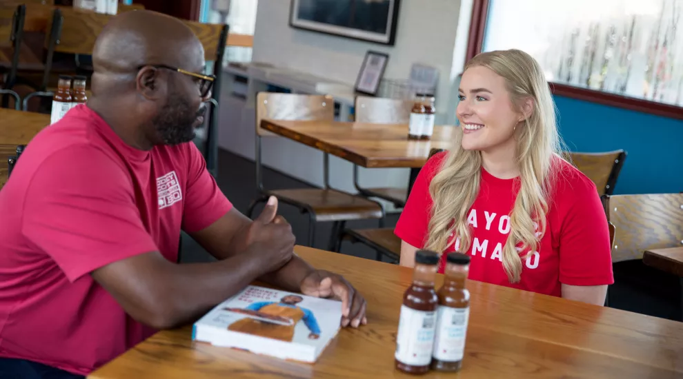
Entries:
{"type": "MultiPolygon", "coordinates": [[[[436,154],[424,165],[395,228],[395,234],[417,248],[424,247],[433,206],[429,184],[441,169],[446,153],[436,154]]],[[[510,233],[510,214],[519,190],[519,179],[500,179],[482,167],[479,194],[469,213],[472,234],[469,278],[540,294],[562,296],[566,285],[614,283],[607,218],[595,184],[573,165],[556,158],[553,196],[546,215],[546,233],[540,249],[521,252],[522,276],[511,284],[502,265],[502,249],[510,233]],[[526,258],[524,258],[526,257],[526,258]]],[[[446,253],[459,246],[451,237],[446,253]]],[[[444,272],[446,254],[439,272],[444,272]]]]}

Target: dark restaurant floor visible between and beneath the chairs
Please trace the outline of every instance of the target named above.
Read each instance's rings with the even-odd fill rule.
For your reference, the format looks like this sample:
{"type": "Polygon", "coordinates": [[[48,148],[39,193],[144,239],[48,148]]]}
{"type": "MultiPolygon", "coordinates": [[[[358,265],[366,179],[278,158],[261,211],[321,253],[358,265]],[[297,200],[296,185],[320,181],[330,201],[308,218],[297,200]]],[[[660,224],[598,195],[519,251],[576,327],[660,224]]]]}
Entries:
{"type": "MultiPolygon", "coordinates": [[[[217,182],[224,194],[241,212],[246,212],[250,202],[257,196],[255,185],[255,166],[252,161],[219,150],[219,174],[217,182]]],[[[334,173],[330,173],[333,175],[334,173]]],[[[264,170],[266,188],[305,188],[306,183],[297,181],[275,170],[264,170]]],[[[261,211],[257,207],[255,214],[261,211]]],[[[308,216],[299,214],[293,207],[281,205],[279,214],[292,225],[297,241],[306,240],[308,232],[308,216]]],[[[387,217],[387,225],[393,226],[397,215],[387,217]]],[[[348,223],[349,227],[377,227],[376,221],[357,221],[348,223]]],[[[317,227],[315,246],[326,249],[330,233],[330,225],[321,223],[317,227]]],[[[374,259],[372,249],[362,244],[342,244],[342,254],[374,259]]],[[[212,257],[191,238],[184,235],[181,249],[181,262],[207,262],[212,257]]],[[[634,311],[650,316],[681,320],[680,285],[678,278],[650,269],[640,261],[617,263],[614,268],[615,285],[610,287],[610,306],[618,309],[634,311]]]]}

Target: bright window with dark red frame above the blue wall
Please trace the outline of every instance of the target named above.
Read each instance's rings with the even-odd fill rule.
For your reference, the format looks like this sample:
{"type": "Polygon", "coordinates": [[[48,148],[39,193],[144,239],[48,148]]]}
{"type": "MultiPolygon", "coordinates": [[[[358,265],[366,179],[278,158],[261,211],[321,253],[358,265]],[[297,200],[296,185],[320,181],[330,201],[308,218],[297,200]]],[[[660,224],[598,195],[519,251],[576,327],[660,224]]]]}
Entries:
{"type": "Polygon", "coordinates": [[[482,0],[478,5],[482,10],[480,19],[473,19],[471,41],[478,41],[479,49],[471,51],[518,48],[539,61],[556,94],[683,118],[683,25],[677,25],[683,1],[482,0]],[[482,22],[485,27],[477,28],[482,22]]]}

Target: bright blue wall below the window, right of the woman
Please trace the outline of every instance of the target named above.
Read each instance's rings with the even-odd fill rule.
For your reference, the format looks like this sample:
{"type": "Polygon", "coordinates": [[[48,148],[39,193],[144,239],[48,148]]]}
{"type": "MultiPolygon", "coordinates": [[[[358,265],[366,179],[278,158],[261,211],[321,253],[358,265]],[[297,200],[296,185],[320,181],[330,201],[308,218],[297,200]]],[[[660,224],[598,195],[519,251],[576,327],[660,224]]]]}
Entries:
{"type": "Polygon", "coordinates": [[[615,194],[683,191],[683,120],[555,96],[569,150],[626,150],[615,194]]]}

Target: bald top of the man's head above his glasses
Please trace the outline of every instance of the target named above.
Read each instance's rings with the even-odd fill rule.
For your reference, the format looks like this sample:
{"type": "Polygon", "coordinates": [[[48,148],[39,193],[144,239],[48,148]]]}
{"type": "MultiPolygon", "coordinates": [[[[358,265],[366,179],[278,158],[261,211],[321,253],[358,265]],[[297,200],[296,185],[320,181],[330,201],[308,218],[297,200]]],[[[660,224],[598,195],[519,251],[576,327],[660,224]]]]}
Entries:
{"type": "Polygon", "coordinates": [[[92,63],[98,74],[130,74],[149,64],[198,70],[204,65],[204,48],[179,19],[135,10],[113,17],[106,25],[95,41],[92,63]]]}

